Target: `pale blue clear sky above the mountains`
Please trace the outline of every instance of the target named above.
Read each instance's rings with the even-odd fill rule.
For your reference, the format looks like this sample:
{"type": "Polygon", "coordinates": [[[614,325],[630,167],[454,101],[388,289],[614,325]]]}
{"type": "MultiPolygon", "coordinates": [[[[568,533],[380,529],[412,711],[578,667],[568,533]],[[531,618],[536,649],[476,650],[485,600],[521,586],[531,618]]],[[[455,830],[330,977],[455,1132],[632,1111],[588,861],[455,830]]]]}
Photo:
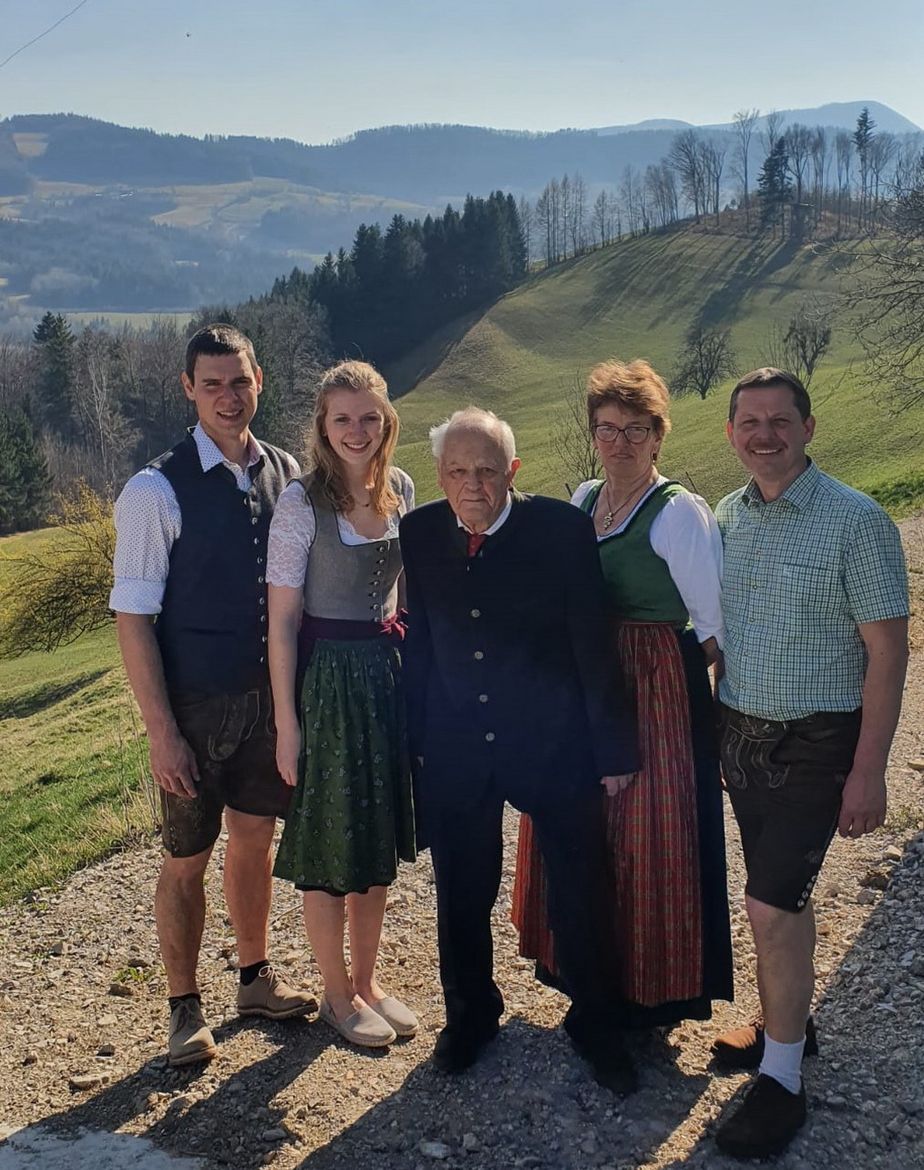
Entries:
{"type": "MultiPolygon", "coordinates": [[[[0,0],[0,62],[78,0],[0,0]]],[[[924,126],[922,0],[83,0],[0,66],[0,117],[325,143],[877,101],[924,126]]]]}

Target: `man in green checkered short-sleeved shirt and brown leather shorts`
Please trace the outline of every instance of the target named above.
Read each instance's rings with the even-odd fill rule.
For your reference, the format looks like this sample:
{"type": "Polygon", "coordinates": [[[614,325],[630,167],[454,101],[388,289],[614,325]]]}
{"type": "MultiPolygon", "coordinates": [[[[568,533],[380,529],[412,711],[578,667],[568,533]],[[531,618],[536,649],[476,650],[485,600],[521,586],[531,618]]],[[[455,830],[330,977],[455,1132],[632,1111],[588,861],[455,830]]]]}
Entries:
{"type": "Polygon", "coordinates": [[[742,834],[763,1023],[713,1045],[759,1065],[716,1142],[737,1157],[786,1148],[806,1119],[814,1052],[812,889],[835,830],[885,817],[885,764],[908,660],[908,578],[878,504],[806,455],[815,431],[801,381],[746,374],[728,434],[751,482],[716,509],[724,544],[722,764],[742,834]]]}

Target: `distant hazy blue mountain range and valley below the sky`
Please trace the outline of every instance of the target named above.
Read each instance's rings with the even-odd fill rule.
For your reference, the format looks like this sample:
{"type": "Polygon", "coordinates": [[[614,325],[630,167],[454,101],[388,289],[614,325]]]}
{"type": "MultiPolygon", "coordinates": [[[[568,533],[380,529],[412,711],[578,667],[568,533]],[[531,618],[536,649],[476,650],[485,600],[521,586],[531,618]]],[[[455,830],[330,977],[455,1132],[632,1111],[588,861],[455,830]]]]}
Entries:
{"type": "MultiPolygon", "coordinates": [[[[878,102],[781,115],[784,125],[849,131],[863,105],[877,132],[919,132],[878,102]]],[[[730,125],[699,129],[722,136],[730,125]]],[[[615,190],[627,167],[660,161],[689,128],[673,119],[550,133],[425,124],[306,145],[15,115],[0,122],[0,326],[4,298],[7,312],[15,301],[22,314],[178,309],[258,294],[273,274],[349,248],[360,222],[441,213],[469,193],[535,199],[550,179],[580,173],[593,199],[615,190]]],[[[760,150],[754,136],[752,174],[760,150]]]]}

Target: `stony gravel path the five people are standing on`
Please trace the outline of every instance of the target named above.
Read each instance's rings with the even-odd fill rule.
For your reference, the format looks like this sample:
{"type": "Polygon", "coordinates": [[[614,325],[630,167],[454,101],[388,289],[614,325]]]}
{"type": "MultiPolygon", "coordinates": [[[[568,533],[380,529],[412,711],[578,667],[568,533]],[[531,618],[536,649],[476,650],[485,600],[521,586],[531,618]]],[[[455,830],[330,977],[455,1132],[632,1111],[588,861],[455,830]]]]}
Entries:
{"type": "MultiPolygon", "coordinates": [[[[924,518],[902,528],[920,606],[924,518]]],[[[809,1124],[778,1161],[786,1170],[924,1165],[924,813],[922,778],[909,766],[924,756],[919,641],[915,626],[889,821],[861,841],[835,840],[818,886],[821,1055],[806,1064],[809,1124]]],[[[717,1005],[709,1024],[634,1039],[642,1087],[625,1102],[589,1079],[558,1027],[566,1002],[536,984],[517,957],[508,922],[512,812],[495,929],[506,1016],[498,1040],[462,1078],[442,1078],[427,1062],[442,1024],[428,855],[394,886],[382,942],[382,982],[425,1026],[379,1054],[350,1048],[320,1023],[235,1017],[220,849],[201,959],[220,1054],[198,1069],[173,1071],[164,1057],[165,983],[151,913],[158,847],[113,856],[60,890],[39,890],[0,911],[0,1170],[735,1165],[710,1134],[747,1081],[716,1075],[709,1045],[717,1031],[746,1020],[756,999],[730,815],[728,825],[738,1000],[717,1005]]],[[[273,937],[289,978],[316,987],[298,903],[283,885],[273,937]]]]}

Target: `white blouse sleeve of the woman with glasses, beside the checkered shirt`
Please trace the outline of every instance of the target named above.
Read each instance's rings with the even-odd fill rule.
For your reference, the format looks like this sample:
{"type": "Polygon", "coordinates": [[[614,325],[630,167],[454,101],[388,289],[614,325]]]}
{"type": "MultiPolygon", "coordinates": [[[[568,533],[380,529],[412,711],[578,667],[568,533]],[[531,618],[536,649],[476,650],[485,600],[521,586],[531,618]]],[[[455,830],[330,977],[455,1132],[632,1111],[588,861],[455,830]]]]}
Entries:
{"type": "Polygon", "coordinates": [[[651,548],[667,562],[701,642],[723,644],[722,536],[709,504],[684,491],[651,524],[651,548]]]}

